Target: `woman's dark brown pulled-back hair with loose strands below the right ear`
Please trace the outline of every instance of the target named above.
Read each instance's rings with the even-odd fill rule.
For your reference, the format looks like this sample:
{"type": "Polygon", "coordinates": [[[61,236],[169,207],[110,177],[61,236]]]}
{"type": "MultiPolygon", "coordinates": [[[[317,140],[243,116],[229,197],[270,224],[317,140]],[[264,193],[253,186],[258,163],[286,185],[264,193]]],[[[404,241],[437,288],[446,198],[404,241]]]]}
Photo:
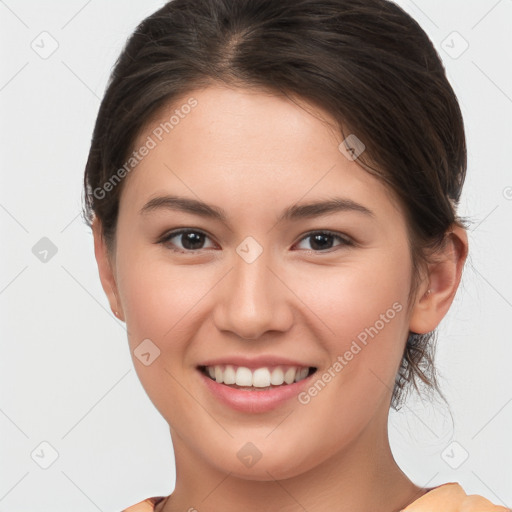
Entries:
{"type": "MultiPolygon", "coordinates": [[[[173,0],[143,20],[112,71],[84,177],[84,219],[115,245],[123,183],[109,187],[159,109],[214,83],[292,95],[325,109],[366,150],[407,216],[413,289],[441,246],[466,173],[461,111],[425,32],[387,0],[173,0]],[[98,191],[101,191],[98,192],[98,191]]],[[[124,174],[123,174],[124,175],[124,174]]],[[[437,390],[435,331],[410,333],[393,390],[437,390]]]]}

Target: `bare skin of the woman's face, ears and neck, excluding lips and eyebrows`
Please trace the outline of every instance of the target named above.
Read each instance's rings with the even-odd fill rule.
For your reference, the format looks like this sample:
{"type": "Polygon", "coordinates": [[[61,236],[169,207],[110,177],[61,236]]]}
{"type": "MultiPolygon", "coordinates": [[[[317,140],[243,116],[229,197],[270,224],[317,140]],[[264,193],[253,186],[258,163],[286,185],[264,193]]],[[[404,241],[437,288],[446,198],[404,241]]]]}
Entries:
{"type": "MultiPolygon", "coordinates": [[[[453,226],[436,263],[408,302],[412,263],[405,215],[393,193],[338,149],[328,113],[264,92],[211,86],[125,178],[116,246],[93,225],[101,282],[127,324],[137,374],[170,425],[174,492],[158,511],[398,511],[426,492],[400,470],[387,421],[409,330],[429,332],[448,311],[467,254],[453,226]],[[314,115],[313,115],[314,114],[314,115]],[[224,209],[229,225],[177,210],[140,210],[173,194],[224,209]],[[276,223],[295,203],[344,197],[373,216],[341,211],[276,223]],[[205,233],[195,252],[177,228],[205,233]],[[308,233],[330,230],[326,249],[308,233]],[[248,236],[263,249],[247,263],[248,236]],[[175,249],[175,250],[173,250],[175,249]],[[177,251],[189,251],[189,253],[177,251]],[[432,291],[426,293],[428,289],[432,291]],[[403,306],[308,404],[265,413],[220,404],[196,365],[233,354],[309,361],[321,375],[394,303],[403,306]],[[145,366],[133,351],[151,339],[160,356],[145,366]],[[245,467],[248,441],[261,459],[245,467]]],[[[154,126],[144,130],[140,147],[154,126]]]]}

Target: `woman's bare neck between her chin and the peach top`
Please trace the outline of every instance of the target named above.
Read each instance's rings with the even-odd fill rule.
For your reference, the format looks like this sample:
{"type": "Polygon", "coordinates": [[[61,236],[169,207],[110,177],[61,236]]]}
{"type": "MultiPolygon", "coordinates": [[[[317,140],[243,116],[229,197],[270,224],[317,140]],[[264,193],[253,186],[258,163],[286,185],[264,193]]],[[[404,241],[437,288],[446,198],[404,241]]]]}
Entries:
{"type": "Polygon", "coordinates": [[[174,433],[174,492],[156,512],[398,512],[425,494],[396,464],[384,424],[369,424],[343,451],[284,480],[256,481],[206,465],[174,433]]]}

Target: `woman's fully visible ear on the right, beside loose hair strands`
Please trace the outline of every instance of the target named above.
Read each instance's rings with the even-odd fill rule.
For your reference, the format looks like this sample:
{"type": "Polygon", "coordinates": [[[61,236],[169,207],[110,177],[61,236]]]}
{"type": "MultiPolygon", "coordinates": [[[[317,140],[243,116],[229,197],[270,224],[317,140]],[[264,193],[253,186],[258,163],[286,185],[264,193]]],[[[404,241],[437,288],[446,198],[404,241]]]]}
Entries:
{"type": "Polygon", "coordinates": [[[439,325],[455,298],[467,254],[466,230],[453,225],[418,289],[409,321],[411,332],[424,334],[439,325]]]}

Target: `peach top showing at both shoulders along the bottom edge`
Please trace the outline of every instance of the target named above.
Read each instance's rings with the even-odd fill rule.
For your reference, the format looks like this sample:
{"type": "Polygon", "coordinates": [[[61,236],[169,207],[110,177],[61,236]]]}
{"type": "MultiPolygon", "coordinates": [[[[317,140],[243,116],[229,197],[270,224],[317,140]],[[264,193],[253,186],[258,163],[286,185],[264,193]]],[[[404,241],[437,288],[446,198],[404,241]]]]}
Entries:
{"type": "MultiPolygon", "coordinates": [[[[165,496],[148,498],[122,512],[154,512],[155,506],[165,496]]],[[[489,500],[476,494],[467,495],[456,482],[434,487],[421,498],[408,505],[401,512],[512,512],[506,507],[493,505],[489,500]]]]}

